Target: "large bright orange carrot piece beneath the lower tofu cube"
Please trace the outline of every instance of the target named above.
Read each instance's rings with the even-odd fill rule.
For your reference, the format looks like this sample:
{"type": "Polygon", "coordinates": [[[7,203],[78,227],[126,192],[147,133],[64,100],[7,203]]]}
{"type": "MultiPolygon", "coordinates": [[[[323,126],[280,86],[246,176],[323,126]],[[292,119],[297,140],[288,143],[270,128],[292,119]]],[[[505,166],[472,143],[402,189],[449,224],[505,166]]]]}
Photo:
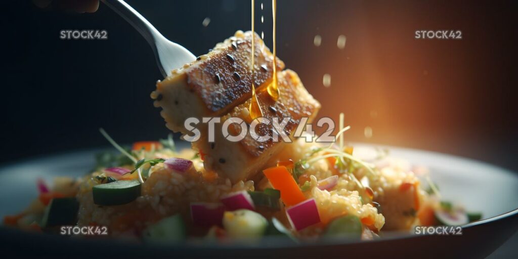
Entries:
{"type": "Polygon", "coordinates": [[[281,191],[281,199],[286,206],[293,206],[306,200],[306,196],[300,191],[298,184],[285,166],[270,167],[263,170],[263,173],[271,185],[281,191]]]}

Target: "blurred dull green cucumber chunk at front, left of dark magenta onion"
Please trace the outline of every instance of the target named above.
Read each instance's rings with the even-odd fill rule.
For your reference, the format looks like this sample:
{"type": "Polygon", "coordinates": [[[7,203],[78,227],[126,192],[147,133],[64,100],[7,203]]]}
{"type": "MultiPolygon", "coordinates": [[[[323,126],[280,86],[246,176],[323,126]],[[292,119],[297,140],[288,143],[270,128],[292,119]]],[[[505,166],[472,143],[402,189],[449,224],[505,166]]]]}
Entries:
{"type": "Polygon", "coordinates": [[[144,229],[142,237],[150,243],[174,243],[185,240],[185,222],[180,214],[162,219],[144,229]]]}

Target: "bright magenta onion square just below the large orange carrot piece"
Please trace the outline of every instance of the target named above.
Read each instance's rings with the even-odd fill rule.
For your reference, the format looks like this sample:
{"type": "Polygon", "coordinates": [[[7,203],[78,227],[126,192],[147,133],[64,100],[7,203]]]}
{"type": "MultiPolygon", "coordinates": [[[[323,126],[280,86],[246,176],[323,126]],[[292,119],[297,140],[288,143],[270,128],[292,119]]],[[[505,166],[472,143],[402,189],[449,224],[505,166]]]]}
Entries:
{"type": "Polygon", "coordinates": [[[286,215],[292,227],[297,231],[320,222],[320,215],[314,198],[287,208],[286,215]]]}

